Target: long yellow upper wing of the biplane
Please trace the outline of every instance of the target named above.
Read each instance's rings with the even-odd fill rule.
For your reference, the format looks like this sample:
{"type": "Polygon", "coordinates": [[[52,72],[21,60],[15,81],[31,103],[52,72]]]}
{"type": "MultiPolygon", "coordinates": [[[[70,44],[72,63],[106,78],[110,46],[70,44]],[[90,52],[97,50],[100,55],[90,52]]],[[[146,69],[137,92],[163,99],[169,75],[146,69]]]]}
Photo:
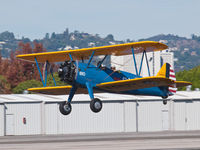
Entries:
{"type": "Polygon", "coordinates": [[[46,53],[34,53],[34,54],[24,54],[18,55],[17,58],[27,60],[27,61],[35,61],[35,57],[38,62],[62,62],[65,60],[69,60],[69,53],[71,53],[73,59],[81,60],[87,59],[91,56],[92,52],[95,51],[94,55],[129,55],[132,54],[131,48],[134,48],[134,53],[141,53],[144,50],[146,52],[152,51],[161,51],[167,49],[168,47],[165,44],[153,41],[144,41],[144,42],[134,42],[134,43],[126,43],[126,44],[118,44],[118,45],[109,45],[109,46],[101,46],[101,47],[93,47],[93,48],[83,48],[76,50],[67,50],[67,51],[56,51],[56,52],[46,52],[46,53]]]}

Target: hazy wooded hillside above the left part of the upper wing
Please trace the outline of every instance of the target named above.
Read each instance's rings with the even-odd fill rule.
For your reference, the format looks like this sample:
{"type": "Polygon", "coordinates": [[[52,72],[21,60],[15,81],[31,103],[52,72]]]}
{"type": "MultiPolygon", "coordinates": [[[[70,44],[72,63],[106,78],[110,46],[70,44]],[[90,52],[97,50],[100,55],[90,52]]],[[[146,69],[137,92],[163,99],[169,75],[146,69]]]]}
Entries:
{"type": "Polygon", "coordinates": [[[66,29],[63,33],[58,34],[55,32],[51,35],[46,33],[44,38],[35,39],[33,41],[24,37],[16,39],[12,32],[5,31],[0,33],[1,55],[3,57],[9,57],[10,52],[17,49],[19,42],[30,42],[31,45],[33,45],[33,42],[42,43],[47,51],[59,51],[65,49],[77,49],[123,43],[123,41],[114,40],[114,37],[111,34],[102,38],[98,34],[92,35],[89,33],[80,33],[79,31],[69,32],[68,29],[66,29]]]}

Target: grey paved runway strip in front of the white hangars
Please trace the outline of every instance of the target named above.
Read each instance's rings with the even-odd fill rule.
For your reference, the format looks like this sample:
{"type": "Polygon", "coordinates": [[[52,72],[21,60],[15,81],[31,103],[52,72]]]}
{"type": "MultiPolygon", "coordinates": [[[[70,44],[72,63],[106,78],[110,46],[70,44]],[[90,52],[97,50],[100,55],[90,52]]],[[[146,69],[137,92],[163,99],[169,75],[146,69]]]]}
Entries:
{"type": "Polygon", "coordinates": [[[199,150],[200,131],[0,137],[0,150],[199,150]]]}

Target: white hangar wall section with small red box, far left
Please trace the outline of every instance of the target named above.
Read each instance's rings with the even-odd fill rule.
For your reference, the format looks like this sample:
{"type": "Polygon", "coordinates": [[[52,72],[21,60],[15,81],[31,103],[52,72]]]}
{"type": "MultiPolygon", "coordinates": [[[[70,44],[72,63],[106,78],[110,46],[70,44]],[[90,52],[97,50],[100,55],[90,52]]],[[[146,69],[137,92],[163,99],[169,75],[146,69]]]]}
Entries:
{"type": "Polygon", "coordinates": [[[6,135],[41,134],[41,103],[6,103],[5,107],[6,116],[11,118],[6,121],[6,135]]]}

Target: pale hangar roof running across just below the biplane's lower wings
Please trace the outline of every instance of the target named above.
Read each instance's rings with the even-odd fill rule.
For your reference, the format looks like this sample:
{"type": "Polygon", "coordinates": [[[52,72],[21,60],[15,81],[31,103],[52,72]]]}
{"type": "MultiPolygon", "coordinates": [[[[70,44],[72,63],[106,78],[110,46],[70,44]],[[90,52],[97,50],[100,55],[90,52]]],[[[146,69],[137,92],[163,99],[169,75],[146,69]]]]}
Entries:
{"type": "MultiPolygon", "coordinates": [[[[68,95],[43,95],[43,94],[1,94],[0,103],[4,102],[58,102],[66,100],[68,95]]],[[[101,100],[162,100],[156,96],[135,96],[112,93],[98,93],[95,97],[101,100]]],[[[178,91],[170,96],[171,100],[200,100],[200,91],[178,91]]],[[[73,101],[90,101],[88,94],[76,94],[73,101]]]]}

